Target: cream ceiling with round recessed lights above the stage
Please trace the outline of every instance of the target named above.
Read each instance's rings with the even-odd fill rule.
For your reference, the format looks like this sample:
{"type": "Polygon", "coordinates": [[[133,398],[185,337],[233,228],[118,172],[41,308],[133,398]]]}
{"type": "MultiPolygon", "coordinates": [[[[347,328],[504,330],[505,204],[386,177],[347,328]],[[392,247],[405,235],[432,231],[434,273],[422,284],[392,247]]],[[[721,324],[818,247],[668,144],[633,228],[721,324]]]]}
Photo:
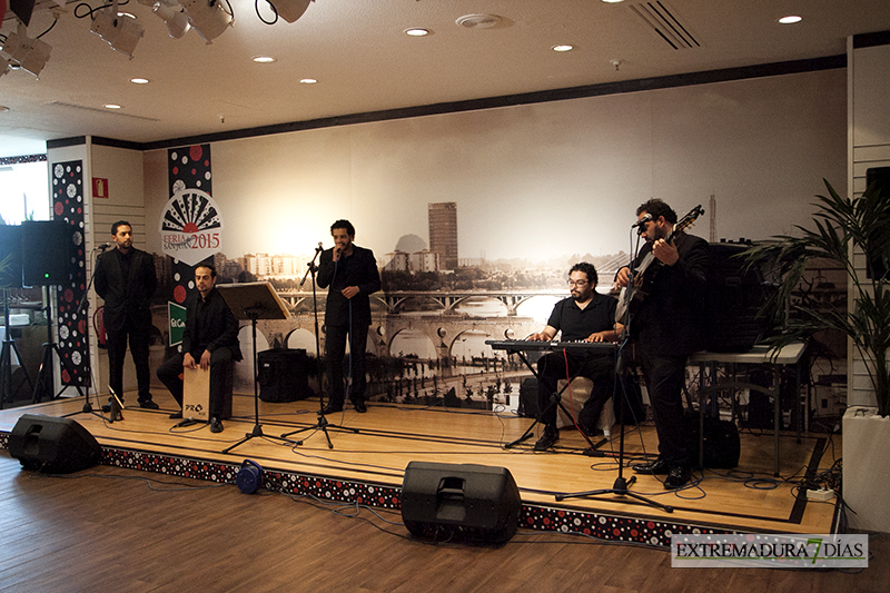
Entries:
{"type": "MultiPolygon", "coordinates": [[[[2,1],[2,0],[0,0],[2,1]]],[[[0,157],[44,151],[48,139],[103,136],[161,141],[258,126],[669,75],[837,56],[851,34],[890,30],[887,0],[664,0],[700,47],[673,49],[636,14],[640,0],[316,0],[296,22],[260,22],[253,0],[230,0],[235,24],[211,45],[168,37],[131,0],[145,37],[130,60],[90,32],[68,3],[41,39],[39,79],[0,77],[0,157]],[[467,29],[465,14],[502,17],[467,29]],[[779,24],[800,14],[797,24],[779,24]],[[409,27],[433,34],[412,38],[409,27]],[[572,43],[557,53],[551,48],[572,43]],[[250,58],[270,55],[275,63],[250,58]],[[612,60],[620,60],[619,69],[612,60]],[[145,77],[149,85],[134,85],[145,77]],[[303,78],[316,85],[301,85],[303,78]],[[122,109],[109,111],[105,103],[122,109]]],[[[265,0],[260,12],[273,17],[265,0]]],[[[656,3],[647,2],[647,3],[656,3]]],[[[39,0],[30,37],[52,23],[39,0]]],[[[99,0],[92,1],[93,7],[99,0]]],[[[82,13],[83,9],[78,10],[82,13]]],[[[7,16],[0,32],[9,33],[7,16]]]]}

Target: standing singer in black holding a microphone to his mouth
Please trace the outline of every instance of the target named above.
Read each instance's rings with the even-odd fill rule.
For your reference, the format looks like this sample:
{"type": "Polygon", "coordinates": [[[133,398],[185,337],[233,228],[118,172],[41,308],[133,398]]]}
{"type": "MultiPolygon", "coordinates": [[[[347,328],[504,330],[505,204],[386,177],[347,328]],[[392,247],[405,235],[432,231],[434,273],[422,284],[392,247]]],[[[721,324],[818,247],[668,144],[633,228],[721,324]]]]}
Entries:
{"type": "Polygon", "coordinates": [[[346,401],[343,369],[349,379],[349,401],[358,413],[365,406],[365,348],[370,326],[369,295],[380,289],[377,260],[370,249],[358,247],[355,227],[348,220],[330,225],[334,247],[322,251],[318,265],[318,286],[328,288],[325,305],[325,357],[330,379],[328,403],[323,414],[343,409],[346,401]],[[346,340],[349,356],[344,360],[346,340]]]}

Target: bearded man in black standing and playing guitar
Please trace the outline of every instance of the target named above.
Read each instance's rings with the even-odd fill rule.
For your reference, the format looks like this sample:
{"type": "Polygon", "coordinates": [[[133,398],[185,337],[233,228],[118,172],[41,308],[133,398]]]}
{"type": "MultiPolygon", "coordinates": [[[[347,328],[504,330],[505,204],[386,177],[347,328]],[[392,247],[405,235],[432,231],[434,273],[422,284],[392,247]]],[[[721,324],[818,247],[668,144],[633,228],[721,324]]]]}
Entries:
{"type": "MultiPolygon", "coordinates": [[[[708,241],[674,231],[676,213],[664,201],[646,201],[636,209],[636,217],[646,243],[634,264],[650,253],[655,263],[634,280],[651,288],[631,318],[630,332],[655,417],[659,457],[633,470],[664,475],[665,490],[675,490],[690,481],[694,458],[694,443],[683,427],[682,389],[689,355],[705,347],[710,256],[708,241]]],[[[616,283],[622,287],[631,283],[629,267],[619,270],[616,283]]]]}

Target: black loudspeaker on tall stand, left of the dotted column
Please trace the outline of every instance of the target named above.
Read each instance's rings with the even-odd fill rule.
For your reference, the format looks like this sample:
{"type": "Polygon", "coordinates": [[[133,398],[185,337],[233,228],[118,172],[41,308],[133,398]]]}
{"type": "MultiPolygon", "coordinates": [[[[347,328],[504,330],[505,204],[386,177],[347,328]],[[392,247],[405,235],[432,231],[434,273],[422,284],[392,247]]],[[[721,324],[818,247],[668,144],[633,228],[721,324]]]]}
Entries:
{"type": "Polygon", "coordinates": [[[72,267],[71,227],[61,220],[26,220],[21,224],[22,276],[26,286],[68,283],[72,267]]]}

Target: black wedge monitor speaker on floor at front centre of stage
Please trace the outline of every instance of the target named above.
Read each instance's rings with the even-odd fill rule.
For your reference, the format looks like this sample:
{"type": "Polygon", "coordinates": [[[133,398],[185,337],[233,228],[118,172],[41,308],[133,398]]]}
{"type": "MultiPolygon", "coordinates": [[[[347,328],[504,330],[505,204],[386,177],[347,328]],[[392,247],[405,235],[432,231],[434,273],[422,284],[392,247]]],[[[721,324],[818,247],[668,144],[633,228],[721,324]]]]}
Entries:
{"type": "Polygon", "coordinates": [[[522,501],[504,467],[411,462],[402,483],[402,521],[415,536],[505,543],[520,525],[522,501]]]}

